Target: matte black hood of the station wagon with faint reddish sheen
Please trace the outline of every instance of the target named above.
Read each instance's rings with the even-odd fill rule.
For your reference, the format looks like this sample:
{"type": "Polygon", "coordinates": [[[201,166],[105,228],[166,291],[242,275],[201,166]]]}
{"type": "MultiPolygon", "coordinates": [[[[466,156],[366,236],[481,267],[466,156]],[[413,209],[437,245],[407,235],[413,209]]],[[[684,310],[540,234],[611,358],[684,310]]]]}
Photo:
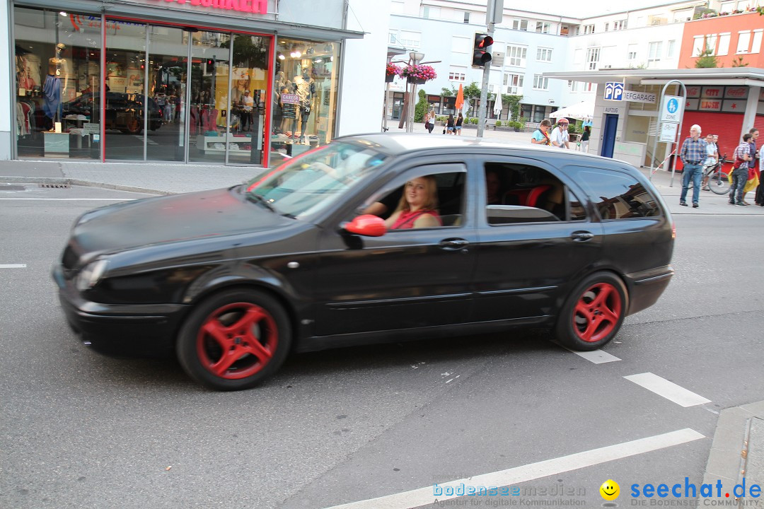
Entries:
{"type": "Polygon", "coordinates": [[[268,230],[293,224],[249,201],[240,188],[125,201],[86,212],[72,240],[81,256],[268,230]]]}

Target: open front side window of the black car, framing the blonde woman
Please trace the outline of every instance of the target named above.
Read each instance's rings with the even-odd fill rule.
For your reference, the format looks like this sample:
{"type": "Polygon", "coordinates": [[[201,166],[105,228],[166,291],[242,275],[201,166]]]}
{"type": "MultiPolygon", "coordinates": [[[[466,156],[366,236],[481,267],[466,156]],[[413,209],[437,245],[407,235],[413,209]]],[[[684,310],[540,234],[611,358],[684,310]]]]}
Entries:
{"type": "Polygon", "coordinates": [[[372,195],[361,211],[382,217],[390,230],[419,228],[415,223],[416,214],[420,211],[424,211],[423,214],[431,220],[427,227],[459,227],[464,224],[467,173],[428,174],[426,171],[425,168],[418,169],[403,179],[396,179],[382,192],[372,195]],[[413,220],[406,221],[406,217],[413,217],[413,220]]]}

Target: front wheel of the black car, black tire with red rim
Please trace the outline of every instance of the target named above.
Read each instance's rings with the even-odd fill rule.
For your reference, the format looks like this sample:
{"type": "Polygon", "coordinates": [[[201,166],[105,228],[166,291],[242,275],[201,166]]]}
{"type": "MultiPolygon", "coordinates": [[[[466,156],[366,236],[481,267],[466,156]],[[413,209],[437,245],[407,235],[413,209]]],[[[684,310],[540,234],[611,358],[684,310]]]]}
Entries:
{"type": "Polygon", "coordinates": [[[273,375],[291,342],[289,317],[276,299],[238,288],[212,295],[191,311],[180,329],[176,353],[196,382],[238,391],[273,375]]]}

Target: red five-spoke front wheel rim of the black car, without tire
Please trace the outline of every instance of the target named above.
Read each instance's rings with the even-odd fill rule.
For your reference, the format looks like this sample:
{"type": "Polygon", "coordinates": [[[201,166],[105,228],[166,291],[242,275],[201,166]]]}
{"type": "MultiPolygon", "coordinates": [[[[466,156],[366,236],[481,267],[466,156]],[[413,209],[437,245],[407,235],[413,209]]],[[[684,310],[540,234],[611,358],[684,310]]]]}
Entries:
{"type": "Polygon", "coordinates": [[[202,366],[222,379],[238,380],[261,371],[279,343],[274,317],[250,302],[215,309],[199,327],[196,353],[202,366]]]}

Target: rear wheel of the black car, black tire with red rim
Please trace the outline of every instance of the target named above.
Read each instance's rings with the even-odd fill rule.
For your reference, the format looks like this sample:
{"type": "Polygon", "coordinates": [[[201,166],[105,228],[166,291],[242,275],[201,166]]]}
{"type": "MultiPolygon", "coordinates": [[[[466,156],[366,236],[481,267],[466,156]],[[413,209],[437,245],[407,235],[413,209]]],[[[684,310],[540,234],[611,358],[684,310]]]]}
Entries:
{"type": "Polygon", "coordinates": [[[559,343],[571,350],[597,350],[616,336],[629,309],[623,281],[610,272],[589,275],[576,285],[555,327],[559,343]]]}

